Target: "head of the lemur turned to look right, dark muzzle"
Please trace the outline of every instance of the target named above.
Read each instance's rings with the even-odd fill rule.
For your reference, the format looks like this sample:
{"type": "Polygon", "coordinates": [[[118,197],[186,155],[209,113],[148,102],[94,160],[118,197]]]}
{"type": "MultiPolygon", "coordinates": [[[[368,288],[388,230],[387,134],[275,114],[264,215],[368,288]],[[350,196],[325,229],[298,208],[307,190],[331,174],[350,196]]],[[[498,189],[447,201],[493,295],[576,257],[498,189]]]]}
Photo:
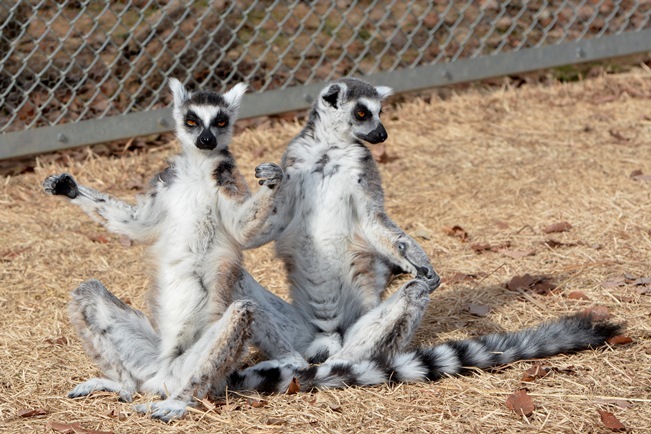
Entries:
{"type": "Polygon", "coordinates": [[[380,122],[382,100],[391,93],[386,86],[342,78],[321,91],[315,108],[325,127],[344,140],[381,143],[388,137],[380,122]]]}

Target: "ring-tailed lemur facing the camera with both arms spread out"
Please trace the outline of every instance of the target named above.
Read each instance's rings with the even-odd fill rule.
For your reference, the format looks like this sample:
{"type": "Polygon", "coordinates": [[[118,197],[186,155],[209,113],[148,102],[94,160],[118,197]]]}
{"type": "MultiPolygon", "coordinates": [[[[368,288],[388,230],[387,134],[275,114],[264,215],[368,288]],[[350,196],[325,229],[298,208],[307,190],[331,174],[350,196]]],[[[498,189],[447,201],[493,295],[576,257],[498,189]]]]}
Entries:
{"type": "Polygon", "coordinates": [[[135,391],[157,393],[167,399],[137,410],[163,420],[183,415],[193,395],[223,391],[249,335],[270,357],[306,365],[284,337],[298,325],[279,323],[257,308],[275,300],[241,266],[242,251],[272,211],[283,177],[278,165],[261,164],[255,175],[262,187],[251,196],[229,152],[246,85],[224,95],[189,93],[176,79],[170,88],[181,153],[137,205],[79,185],[68,174],[43,184],[109,230],[150,243],[156,264],[153,324],[96,280],[73,291],[71,322],[107,378],[81,383],[69,396],[106,390],[131,401],[135,391]]]}

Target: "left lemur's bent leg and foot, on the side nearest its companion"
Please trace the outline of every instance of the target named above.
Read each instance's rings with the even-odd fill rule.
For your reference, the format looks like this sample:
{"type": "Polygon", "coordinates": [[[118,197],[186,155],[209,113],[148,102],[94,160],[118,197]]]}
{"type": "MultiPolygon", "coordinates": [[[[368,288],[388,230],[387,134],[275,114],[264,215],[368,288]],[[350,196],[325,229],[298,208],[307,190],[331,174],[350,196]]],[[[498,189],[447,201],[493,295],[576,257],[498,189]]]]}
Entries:
{"type": "Polygon", "coordinates": [[[205,396],[212,384],[235,370],[246,350],[254,309],[254,303],[248,300],[231,304],[192,347],[143,384],[145,391],[169,390],[169,397],[134,409],[150,412],[152,418],[165,422],[183,416],[193,396],[205,396]]]}

